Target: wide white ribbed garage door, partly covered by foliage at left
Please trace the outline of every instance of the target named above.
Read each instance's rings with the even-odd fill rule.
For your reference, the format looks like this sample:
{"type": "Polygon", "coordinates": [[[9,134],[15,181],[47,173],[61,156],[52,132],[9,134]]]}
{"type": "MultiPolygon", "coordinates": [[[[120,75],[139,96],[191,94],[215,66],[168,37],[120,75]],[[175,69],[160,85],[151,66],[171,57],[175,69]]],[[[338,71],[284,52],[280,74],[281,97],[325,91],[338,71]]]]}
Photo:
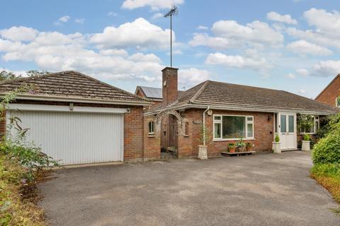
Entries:
{"type": "MultiPolygon", "coordinates": [[[[9,113],[9,114],[8,114],[9,113]]],[[[123,114],[8,111],[28,140],[63,165],[123,161],[123,114]]]]}

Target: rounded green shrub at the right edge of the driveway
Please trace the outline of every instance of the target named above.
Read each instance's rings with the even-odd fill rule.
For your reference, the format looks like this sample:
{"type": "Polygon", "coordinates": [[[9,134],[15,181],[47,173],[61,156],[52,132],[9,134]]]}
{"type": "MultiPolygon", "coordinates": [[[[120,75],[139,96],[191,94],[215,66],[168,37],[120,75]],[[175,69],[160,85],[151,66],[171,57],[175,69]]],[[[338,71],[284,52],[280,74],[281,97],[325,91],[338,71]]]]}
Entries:
{"type": "Polygon", "coordinates": [[[340,129],[319,140],[312,150],[314,164],[340,163],[340,129]]]}

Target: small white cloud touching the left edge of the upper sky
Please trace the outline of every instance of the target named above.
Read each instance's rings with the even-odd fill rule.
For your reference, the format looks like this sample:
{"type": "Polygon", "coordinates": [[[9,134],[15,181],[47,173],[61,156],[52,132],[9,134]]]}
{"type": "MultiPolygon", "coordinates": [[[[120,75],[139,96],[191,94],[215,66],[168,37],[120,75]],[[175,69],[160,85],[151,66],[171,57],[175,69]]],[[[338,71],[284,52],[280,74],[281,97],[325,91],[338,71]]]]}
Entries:
{"type": "Polygon", "coordinates": [[[37,34],[38,30],[23,26],[0,30],[2,37],[12,41],[30,41],[33,40],[37,34]]]}

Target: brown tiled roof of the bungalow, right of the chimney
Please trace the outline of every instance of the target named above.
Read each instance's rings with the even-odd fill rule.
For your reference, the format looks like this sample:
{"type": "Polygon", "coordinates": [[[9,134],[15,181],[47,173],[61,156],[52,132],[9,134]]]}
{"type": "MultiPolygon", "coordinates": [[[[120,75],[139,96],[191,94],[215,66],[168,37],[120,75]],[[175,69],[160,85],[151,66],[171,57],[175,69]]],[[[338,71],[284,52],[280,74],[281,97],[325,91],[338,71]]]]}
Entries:
{"type": "Polygon", "coordinates": [[[334,107],[325,105],[300,95],[283,90],[258,88],[247,85],[236,85],[216,81],[205,81],[184,91],[176,102],[170,105],[157,106],[150,111],[160,111],[169,107],[183,107],[185,105],[205,105],[225,107],[228,109],[244,109],[244,111],[295,111],[315,112],[319,114],[334,114],[338,111],[334,107]]]}

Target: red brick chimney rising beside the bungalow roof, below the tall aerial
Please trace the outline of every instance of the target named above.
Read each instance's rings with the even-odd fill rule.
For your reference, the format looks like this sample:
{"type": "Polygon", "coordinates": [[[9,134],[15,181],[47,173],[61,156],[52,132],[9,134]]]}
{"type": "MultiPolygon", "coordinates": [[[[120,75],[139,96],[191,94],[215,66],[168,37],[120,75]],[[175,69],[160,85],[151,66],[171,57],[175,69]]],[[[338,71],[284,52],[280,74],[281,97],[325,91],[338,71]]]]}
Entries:
{"type": "Polygon", "coordinates": [[[162,83],[162,95],[163,95],[163,105],[169,105],[175,100],[177,100],[178,93],[178,71],[179,69],[174,69],[166,67],[162,70],[163,83],[162,83]]]}

